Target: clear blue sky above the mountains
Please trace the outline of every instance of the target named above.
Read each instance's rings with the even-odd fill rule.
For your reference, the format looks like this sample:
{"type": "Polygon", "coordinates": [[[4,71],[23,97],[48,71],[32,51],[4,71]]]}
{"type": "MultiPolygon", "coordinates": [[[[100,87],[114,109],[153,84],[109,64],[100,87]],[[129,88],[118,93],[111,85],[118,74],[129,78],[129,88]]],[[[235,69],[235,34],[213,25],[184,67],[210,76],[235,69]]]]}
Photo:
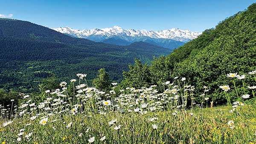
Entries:
{"type": "Polygon", "coordinates": [[[171,28],[202,32],[255,0],[0,0],[0,17],[50,28],[171,28]]]}

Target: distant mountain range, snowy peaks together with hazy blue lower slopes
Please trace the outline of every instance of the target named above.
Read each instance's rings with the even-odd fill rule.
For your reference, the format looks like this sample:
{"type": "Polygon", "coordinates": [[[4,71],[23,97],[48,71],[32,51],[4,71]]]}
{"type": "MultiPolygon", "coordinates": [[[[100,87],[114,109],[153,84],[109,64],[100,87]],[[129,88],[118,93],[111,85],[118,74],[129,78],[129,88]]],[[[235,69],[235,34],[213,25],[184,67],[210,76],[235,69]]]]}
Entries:
{"type": "Polygon", "coordinates": [[[119,26],[90,30],[76,30],[70,27],[60,27],[54,30],[71,37],[86,38],[96,42],[104,42],[124,46],[133,42],[144,41],[169,49],[175,49],[179,46],[183,46],[184,43],[198,37],[201,34],[199,32],[191,32],[181,29],[146,31],[122,29],[119,26]]]}

